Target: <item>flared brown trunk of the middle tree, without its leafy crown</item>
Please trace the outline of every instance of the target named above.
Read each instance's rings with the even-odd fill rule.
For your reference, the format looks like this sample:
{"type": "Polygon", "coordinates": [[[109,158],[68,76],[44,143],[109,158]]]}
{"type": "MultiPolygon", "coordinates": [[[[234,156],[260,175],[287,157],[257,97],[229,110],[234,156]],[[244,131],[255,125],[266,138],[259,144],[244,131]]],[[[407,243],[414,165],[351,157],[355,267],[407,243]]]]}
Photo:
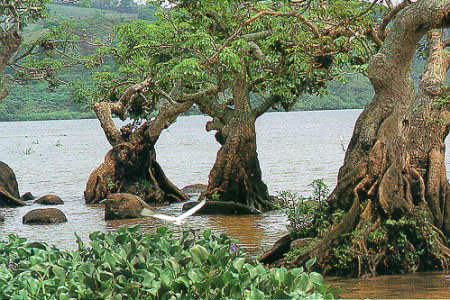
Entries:
{"type": "Polygon", "coordinates": [[[209,173],[209,199],[233,201],[261,211],[273,209],[267,185],[262,181],[256,152],[256,116],[251,110],[245,80],[233,87],[234,110],[227,124],[216,134],[222,147],[209,173]]]}

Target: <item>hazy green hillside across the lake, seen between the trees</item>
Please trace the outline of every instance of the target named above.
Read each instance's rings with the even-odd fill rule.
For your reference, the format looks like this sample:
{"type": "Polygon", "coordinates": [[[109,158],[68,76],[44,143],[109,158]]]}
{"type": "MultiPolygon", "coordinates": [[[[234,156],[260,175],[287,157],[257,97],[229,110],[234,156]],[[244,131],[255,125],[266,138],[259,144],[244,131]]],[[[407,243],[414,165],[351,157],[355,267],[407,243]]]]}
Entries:
{"type": "MultiPolygon", "coordinates": [[[[72,20],[88,36],[105,39],[115,25],[136,19],[151,19],[149,9],[137,13],[51,4],[51,16],[27,28],[26,42],[32,42],[54,25],[72,20]]],[[[151,9],[150,9],[151,10],[151,9]]],[[[413,77],[417,80],[423,70],[423,62],[416,60],[413,77]]],[[[89,74],[71,70],[62,75],[66,81],[88,80],[89,74]]],[[[327,110],[364,108],[373,97],[373,88],[367,77],[349,75],[346,80],[334,81],[323,95],[304,95],[293,110],[327,110]]],[[[50,89],[45,82],[16,84],[10,95],[0,102],[0,121],[55,120],[93,118],[94,114],[71,102],[66,87],[50,89]]],[[[198,111],[194,111],[198,112],[198,111]]],[[[192,112],[191,112],[192,113],[192,112]]]]}

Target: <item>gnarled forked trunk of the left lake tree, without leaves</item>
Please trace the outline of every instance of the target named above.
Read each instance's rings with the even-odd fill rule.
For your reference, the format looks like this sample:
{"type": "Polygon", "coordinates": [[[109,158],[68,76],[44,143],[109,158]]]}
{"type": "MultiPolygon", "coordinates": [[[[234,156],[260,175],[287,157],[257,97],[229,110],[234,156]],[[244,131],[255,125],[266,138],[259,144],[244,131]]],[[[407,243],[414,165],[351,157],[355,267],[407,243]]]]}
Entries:
{"type": "Polygon", "coordinates": [[[131,193],[140,196],[148,203],[171,203],[187,199],[164,174],[156,161],[155,143],[162,130],[175,121],[177,116],[188,110],[191,103],[166,104],[152,121],[143,123],[139,128],[132,125],[119,130],[115,127],[111,115],[124,116],[120,103],[98,103],[95,112],[113,146],[102,163],[89,177],[85,200],[96,203],[111,193],[131,193]]]}

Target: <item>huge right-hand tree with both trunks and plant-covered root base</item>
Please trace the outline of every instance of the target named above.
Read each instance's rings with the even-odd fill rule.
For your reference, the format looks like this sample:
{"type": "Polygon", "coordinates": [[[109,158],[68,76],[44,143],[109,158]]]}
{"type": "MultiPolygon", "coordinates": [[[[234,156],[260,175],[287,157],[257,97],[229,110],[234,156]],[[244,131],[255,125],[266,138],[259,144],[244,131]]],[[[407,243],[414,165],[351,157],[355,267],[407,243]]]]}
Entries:
{"type": "Polygon", "coordinates": [[[375,96],[356,122],[329,197],[331,226],[297,241],[303,247],[290,264],[315,256],[327,272],[359,276],[448,266],[448,125],[439,122],[447,106],[432,103],[444,92],[448,56],[437,31],[417,101],[410,66],[422,37],[450,26],[449,13],[449,1],[405,1],[368,31],[380,46],[368,66],[375,96]]]}

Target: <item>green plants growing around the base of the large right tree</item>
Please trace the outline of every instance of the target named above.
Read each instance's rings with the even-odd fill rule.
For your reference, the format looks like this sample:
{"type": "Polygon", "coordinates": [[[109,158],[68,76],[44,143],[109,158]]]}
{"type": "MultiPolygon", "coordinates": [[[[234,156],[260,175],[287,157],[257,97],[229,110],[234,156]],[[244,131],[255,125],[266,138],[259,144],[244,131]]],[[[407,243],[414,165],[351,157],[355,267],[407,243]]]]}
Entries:
{"type": "MultiPolygon", "coordinates": [[[[328,189],[321,179],[311,184],[309,197],[283,192],[278,206],[286,211],[294,239],[307,241],[286,254],[295,258],[314,246],[338,224],[344,212],[331,212],[328,189]]],[[[414,209],[402,217],[369,220],[330,248],[330,264],[337,275],[409,273],[435,270],[449,264],[439,247],[439,238],[449,241],[430,223],[429,212],[414,209]],[[444,264],[444,265],[441,265],[444,264]],[[357,274],[355,274],[358,272],[357,274]]]]}

